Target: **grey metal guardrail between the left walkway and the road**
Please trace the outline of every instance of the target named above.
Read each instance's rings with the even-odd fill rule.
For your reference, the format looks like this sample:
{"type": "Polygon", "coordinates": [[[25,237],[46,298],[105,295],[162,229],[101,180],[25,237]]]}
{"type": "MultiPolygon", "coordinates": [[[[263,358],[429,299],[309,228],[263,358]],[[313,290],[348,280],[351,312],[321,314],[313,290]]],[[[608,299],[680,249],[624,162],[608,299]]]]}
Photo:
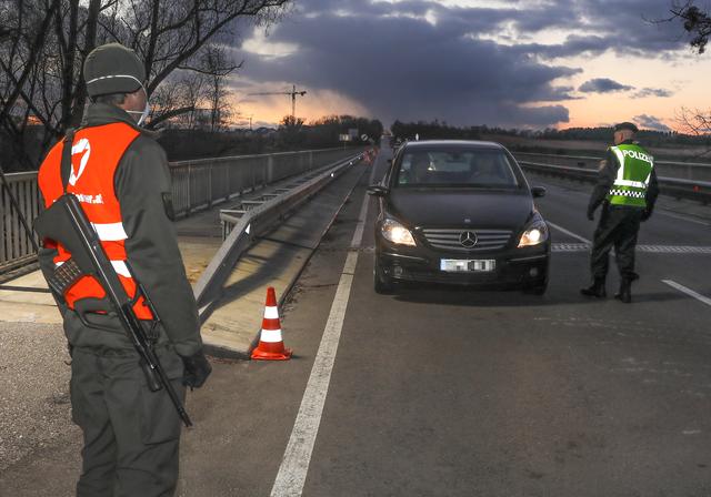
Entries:
{"type": "Polygon", "coordinates": [[[226,209],[220,213],[223,223],[224,242],[194,286],[194,296],[204,320],[211,303],[219,298],[222,285],[232,268],[249,247],[263,234],[274,227],[289,212],[296,210],[319,190],[362,160],[365,152],[336,162],[312,178],[303,178],[292,187],[280,189],[261,201],[242,202],[240,209],[226,209]]]}

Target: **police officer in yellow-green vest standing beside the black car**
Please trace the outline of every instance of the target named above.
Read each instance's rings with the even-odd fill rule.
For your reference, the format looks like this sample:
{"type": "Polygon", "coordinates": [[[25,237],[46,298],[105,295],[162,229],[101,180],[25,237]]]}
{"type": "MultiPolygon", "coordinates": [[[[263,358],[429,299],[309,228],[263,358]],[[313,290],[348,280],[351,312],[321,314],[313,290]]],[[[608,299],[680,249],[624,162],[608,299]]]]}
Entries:
{"type": "Polygon", "coordinates": [[[634,272],[634,247],[640,222],[652,215],[659,194],[654,159],[634,141],[637,132],[631,122],[617,124],[614,145],[608,149],[607,158],[601,162],[598,183],[588,205],[588,219],[592,221],[595,209],[602,204],[590,256],[593,281],[591,286],[580,291],[587,296],[607,296],[609,254],[614,246],[620,271],[620,291],[614,297],[627,304],[632,302],[632,282],[639,278],[634,272]]]}

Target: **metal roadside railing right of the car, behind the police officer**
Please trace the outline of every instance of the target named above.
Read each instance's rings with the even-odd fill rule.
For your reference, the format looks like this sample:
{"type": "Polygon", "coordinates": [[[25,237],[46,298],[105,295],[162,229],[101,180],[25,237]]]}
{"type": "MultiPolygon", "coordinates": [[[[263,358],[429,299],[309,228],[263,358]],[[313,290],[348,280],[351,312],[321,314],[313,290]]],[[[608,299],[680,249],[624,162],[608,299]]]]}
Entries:
{"type": "MultiPolygon", "coordinates": [[[[575,180],[581,182],[594,183],[598,178],[598,168],[601,158],[573,156],[573,155],[549,155],[533,153],[514,153],[517,162],[525,170],[531,172],[575,180]],[[530,159],[537,159],[537,162],[530,159]],[[561,162],[574,162],[575,165],[561,165],[561,162]],[[587,164],[594,164],[594,168],[587,164]]],[[[711,164],[689,164],[684,162],[654,162],[658,171],[659,190],[662,195],[670,195],[677,199],[688,199],[708,204],[711,202],[711,181],[685,178],[670,178],[662,175],[669,173],[670,169],[664,166],[690,166],[695,168],[692,175],[705,176],[711,173],[711,164]]],[[[672,170],[673,171],[673,170],[672,170]]]]}

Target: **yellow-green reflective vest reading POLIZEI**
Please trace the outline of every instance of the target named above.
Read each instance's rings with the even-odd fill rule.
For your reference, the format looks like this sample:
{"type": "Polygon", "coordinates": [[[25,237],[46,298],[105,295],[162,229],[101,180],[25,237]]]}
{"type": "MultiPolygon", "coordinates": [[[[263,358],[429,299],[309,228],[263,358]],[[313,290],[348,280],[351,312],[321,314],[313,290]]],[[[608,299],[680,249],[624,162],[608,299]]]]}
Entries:
{"type": "Polygon", "coordinates": [[[612,205],[647,207],[647,189],[654,168],[654,158],[637,144],[611,146],[620,169],[608,193],[612,205]]]}

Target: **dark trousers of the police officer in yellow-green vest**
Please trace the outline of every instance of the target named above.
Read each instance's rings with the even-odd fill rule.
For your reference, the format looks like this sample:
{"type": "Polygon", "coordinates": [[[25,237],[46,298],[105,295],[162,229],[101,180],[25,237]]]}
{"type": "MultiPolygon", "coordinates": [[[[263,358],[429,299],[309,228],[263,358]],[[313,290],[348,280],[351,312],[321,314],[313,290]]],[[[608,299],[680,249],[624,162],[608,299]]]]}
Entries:
{"type": "Polygon", "coordinates": [[[603,205],[590,254],[593,277],[607,276],[613,246],[620,276],[630,281],[639,277],[634,272],[634,248],[643,213],[644,209],[640,207],[603,205]]]}

